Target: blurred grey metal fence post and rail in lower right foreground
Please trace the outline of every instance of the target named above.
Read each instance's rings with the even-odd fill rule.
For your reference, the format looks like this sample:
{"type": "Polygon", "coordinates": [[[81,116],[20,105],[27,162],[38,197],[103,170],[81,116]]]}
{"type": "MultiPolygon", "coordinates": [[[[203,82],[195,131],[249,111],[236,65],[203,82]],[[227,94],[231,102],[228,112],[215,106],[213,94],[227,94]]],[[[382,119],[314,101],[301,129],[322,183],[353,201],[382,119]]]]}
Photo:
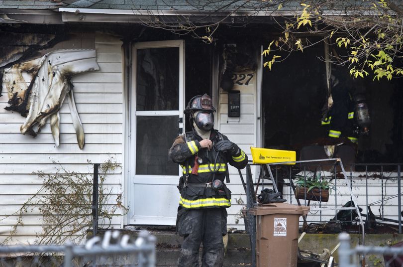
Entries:
{"type": "Polygon", "coordinates": [[[340,247],[339,267],[361,267],[366,263],[372,266],[401,267],[403,266],[403,247],[350,247],[350,236],[339,235],[340,247]]]}

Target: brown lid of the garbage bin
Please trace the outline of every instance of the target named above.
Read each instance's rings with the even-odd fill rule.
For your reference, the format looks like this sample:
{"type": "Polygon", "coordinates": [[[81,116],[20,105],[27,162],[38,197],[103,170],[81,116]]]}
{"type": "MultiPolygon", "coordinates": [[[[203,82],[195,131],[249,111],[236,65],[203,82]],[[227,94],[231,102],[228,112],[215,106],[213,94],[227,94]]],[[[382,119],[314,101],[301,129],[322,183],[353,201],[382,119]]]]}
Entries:
{"type": "Polygon", "coordinates": [[[308,214],[309,207],[298,206],[288,203],[269,203],[258,204],[257,207],[249,210],[252,215],[269,215],[269,214],[308,214]]]}

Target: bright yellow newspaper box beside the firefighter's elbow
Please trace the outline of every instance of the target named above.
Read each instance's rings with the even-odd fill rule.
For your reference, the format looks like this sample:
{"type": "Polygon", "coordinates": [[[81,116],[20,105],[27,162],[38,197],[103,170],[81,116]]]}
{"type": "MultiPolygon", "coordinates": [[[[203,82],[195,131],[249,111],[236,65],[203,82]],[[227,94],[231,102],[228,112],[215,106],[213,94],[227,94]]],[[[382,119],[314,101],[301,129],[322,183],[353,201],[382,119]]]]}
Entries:
{"type": "MultiPolygon", "coordinates": [[[[251,147],[253,163],[267,164],[275,162],[296,161],[296,151],[251,147]]],[[[287,163],[295,164],[295,163],[287,163]]]]}

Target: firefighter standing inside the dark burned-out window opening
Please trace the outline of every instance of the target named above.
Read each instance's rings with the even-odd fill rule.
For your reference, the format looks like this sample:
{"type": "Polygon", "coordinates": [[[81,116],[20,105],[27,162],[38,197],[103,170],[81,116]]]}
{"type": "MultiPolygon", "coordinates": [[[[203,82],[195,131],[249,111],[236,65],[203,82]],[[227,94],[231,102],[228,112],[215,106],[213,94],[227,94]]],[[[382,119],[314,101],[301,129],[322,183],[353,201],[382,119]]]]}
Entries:
{"type": "Polygon", "coordinates": [[[322,126],[328,126],[327,136],[332,143],[339,141],[339,137],[347,137],[352,143],[357,144],[357,132],[354,122],[354,103],[346,86],[339,79],[331,75],[333,105],[327,116],[321,121],[322,126]]]}

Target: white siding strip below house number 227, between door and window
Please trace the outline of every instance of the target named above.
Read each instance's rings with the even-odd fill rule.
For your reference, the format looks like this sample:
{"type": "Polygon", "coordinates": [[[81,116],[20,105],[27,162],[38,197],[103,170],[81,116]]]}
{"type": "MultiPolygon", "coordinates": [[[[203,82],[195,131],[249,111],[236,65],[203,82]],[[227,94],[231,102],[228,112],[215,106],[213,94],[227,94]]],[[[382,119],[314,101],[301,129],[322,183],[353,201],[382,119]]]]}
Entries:
{"type": "MultiPolygon", "coordinates": [[[[218,99],[218,128],[217,130],[226,135],[229,140],[236,143],[247,155],[248,159],[252,159],[250,147],[256,145],[256,72],[252,73],[253,78],[249,81],[248,85],[242,83],[239,85],[234,84],[232,90],[240,91],[240,111],[241,116],[228,117],[228,93],[220,89],[218,99]]],[[[236,80],[235,80],[236,81],[236,80]]],[[[246,81],[246,80],[244,80],[246,81]]],[[[252,175],[254,175],[254,168],[252,169],[252,175]]],[[[242,175],[246,181],[246,168],[242,170],[242,175]]],[[[236,203],[236,199],[242,199],[246,205],[245,190],[242,186],[241,179],[239,177],[238,169],[229,166],[230,183],[227,184],[228,188],[232,192],[231,207],[227,209],[227,228],[236,228],[243,230],[243,219],[240,219],[238,224],[235,224],[237,214],[242,209],[242,205],[236,203]]]]}

